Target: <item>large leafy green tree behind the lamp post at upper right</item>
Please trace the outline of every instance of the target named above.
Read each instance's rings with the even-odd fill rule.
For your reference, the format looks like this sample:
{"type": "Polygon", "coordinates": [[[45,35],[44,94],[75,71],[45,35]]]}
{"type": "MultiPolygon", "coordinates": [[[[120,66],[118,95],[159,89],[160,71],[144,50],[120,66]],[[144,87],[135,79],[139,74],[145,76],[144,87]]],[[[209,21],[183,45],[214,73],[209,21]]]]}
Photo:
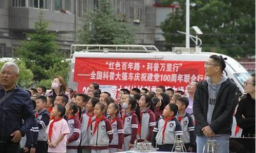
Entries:
{"type": "MultiPolygon", "coordinates": [[[[184,46],[185,0],[163,0],[165,4],[179,2],[181,9],[162,22],[168,48],[184,46]],[[176,34],[175,34],[176,33],[176,34]]],[[[190,0],[190,27],[197,25],[203,35],[204,52],[214,47],[216,52],[232,57],[255,55],[255,1],[190,0]]],[[[191,31],[193,33],[194,31],[191,31]]],[[[194,42],[190,41],[190,45],[194,42]]]]}

